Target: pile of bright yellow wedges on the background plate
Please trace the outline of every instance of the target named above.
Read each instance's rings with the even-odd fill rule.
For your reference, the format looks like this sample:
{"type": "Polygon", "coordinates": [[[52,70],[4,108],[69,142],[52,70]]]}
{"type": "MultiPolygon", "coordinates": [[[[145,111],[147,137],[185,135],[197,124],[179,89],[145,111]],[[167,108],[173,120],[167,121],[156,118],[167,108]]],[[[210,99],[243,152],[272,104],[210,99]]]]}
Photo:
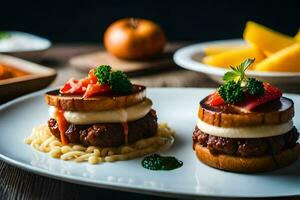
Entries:
{"type": "MultiPolygon", "coordinates": [[[[229,66],[238,65],[246,58],[255,58],[255,63],[251,65],[250,70],[270,72],[300,71],[299,31],[295,37],[291,37],[249,21],[244,29],[243,37],[246,44],[241,48],[228,48],[226,50],[224,44],[219,46],[208,45],[204,48],[205,56],[202,62],[211,66],[228,68],[229,66]],[[214,51],[214,49],[216,50],[214,51]],[[225,50],[223,51],[222,49],[225,50]]],[[[228,43],[227,45],[230,46],[231,44],[228,43]]],[[[233,45],[237,44],[234,43],[233,45]]]]}

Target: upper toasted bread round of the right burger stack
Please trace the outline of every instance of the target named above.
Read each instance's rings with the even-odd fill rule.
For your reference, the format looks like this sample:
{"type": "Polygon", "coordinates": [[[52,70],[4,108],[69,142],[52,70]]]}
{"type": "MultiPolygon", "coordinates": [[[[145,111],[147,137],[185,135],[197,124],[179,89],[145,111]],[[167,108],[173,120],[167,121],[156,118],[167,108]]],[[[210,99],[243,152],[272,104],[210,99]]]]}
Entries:
{"type": "Polygon", "coordinates": [[[294,117],[294,103],[286,97],[261,105],[251,112],[239,110],[231,105],[221,108],[210,107],[205,104],[205,101],[206,98],[200,102],[198,117],[200,120],[218,127],[282,124],[294,117]]]}

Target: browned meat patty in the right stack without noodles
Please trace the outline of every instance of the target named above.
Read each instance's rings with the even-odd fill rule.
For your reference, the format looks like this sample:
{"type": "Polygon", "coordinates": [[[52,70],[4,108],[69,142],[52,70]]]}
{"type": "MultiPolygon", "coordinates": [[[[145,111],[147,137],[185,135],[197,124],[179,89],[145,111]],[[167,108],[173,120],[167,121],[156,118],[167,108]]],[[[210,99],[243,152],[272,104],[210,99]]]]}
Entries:
{"type": "Polygon", "coordinates": [[[299,133],[294,127],[286,134],[265,138],[226,138],[203,133],[197,126],[193,133],[193,146],[198,143],[212,154],[240,157],[274,155],[296,145],[299,133]]]}

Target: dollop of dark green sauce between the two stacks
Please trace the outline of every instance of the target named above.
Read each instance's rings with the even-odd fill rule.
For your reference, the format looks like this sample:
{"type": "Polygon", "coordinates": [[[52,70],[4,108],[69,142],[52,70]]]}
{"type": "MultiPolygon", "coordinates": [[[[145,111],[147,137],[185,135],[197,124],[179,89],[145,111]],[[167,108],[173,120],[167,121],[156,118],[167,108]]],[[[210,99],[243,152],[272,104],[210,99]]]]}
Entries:
{"type": "Polygon", "coordinates": [[[150,170],[173,170],[181,167],[183,162],[173,156],[152,154],[142,160],[142,166],[150,170]]]}

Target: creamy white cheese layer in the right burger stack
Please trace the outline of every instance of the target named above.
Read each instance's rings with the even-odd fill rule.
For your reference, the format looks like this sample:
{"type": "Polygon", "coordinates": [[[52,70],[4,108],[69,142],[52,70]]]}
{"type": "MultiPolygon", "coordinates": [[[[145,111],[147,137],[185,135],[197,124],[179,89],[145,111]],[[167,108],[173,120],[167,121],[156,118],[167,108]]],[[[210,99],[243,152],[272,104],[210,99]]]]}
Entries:
{"type": "Polygon", "coordinates": [[[198,128],[207,134],[228,137],[228,138],[262,138],[282,135],[290,131],[294,125],[293,121],[284,124],[276,125],[261,125],[261,126],[247,126],[236,128],[223,128],[207,124],[200,119],[197,122],[198,128]]]}

